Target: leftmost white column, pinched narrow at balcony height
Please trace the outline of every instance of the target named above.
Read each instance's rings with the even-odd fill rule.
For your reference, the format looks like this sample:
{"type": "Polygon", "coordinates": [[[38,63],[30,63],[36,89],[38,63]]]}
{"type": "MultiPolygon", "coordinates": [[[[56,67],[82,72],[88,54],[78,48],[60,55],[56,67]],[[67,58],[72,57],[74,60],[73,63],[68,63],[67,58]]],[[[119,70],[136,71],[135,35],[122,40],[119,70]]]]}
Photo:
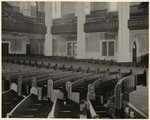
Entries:
{"type": "Polygon", "coordinates": [[[47,27],[47,33],[45,35],[45,56],[53,55],[53,43],[52,43],[52,2],[45,2],[45,25],[47,27]]]}

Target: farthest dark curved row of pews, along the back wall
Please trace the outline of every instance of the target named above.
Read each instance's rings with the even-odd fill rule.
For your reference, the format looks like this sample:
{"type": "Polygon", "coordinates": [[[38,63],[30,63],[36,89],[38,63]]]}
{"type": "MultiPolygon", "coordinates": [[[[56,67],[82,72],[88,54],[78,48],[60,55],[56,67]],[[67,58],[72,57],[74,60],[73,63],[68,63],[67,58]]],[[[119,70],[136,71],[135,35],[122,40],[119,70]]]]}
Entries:
{"type": "Polygon", "coordinates": [[[2,61],[10,61],[11,59],[16,60],[44,60],[44,61],[60,61],[60,62],[77,62],[77,63],[90,63],[90,64],[99,64],[99,65],[108,65],[108,66],[120,66],[120,67],[148,67],[148,65],[144,63],[133,63],[133,62],[116,62],[115,60],[100,60],[100,59],[75,59],[74,57],[67,56],[44,56],[38,54],[25,55],[25,54],[9,54],[8,56],[3,56],[2,61]]]}

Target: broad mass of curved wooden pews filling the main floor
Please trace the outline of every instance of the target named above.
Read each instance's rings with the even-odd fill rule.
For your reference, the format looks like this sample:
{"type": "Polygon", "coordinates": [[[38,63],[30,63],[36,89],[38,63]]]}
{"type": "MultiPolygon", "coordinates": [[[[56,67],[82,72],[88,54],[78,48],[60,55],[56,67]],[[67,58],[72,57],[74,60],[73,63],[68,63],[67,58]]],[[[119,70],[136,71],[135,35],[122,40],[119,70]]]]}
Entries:
{"type": "MultiPolygon", "coordinates": [[[[136,90],[139,78],[146,78],[133,70],[39,63],[3,59],[3,118],[126,118],[129,93],[136,90]]],[[[147,118],[133,108],[130,114],[147,118]]]]}

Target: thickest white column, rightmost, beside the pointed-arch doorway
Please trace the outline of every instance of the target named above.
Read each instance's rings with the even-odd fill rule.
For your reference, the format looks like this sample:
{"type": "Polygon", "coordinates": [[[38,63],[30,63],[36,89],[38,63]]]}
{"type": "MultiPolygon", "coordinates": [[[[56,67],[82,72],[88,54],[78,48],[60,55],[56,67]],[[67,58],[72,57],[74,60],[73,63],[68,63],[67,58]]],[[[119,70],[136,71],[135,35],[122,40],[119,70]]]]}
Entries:
{"type": "Polygon", "coordinates": [[[130,62],[128,19],[130,14],[129,2],[118,3],[118,62],[130,62]]]}

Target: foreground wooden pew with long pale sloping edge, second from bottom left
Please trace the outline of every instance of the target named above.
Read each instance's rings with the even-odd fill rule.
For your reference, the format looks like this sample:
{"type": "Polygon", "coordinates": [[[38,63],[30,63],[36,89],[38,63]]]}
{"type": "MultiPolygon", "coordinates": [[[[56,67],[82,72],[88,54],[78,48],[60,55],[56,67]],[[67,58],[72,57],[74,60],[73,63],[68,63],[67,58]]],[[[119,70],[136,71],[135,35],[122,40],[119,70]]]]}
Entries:
{"type": "MultiPolygon", "coordinates": [[[[7,117],[37,117],[39,113],[41,114],[44,114],[43,111],[45,109],[48,109],[48,112],[46,112],[48,115],[48,113],[50,112],[50,108],[52,108],[52,105],[51,105],[51,101],[47,101],[47,100],[43,100],[41,99],[41,95],[39,93],[41,93],[41,90],[42,88],[40,87],[32,87],[31,89],[31,94],[29,94],[24,100],[22,100],[8,115],[7,117]],[[35,95],[33,95],[35,94],[35,95]],[[34,114],[33,112],[30,111],[30,109],[33,109],[33,100],[31,98],[31,96],[34,96],[36,97],[36,100],[34,101],[34,103],[40,103],[42,104],[42,106],[44,106],[44,108],[41,110],[40,108],[38,110],[35,110],[35,111],[38,111],[38,113],[34,114]],[[43,105],[44,104],[44,105],[43,105]],[[32,106],[32,107],[31,107],[32,106]],[[24,108],[24,109],[21,109],[21,108],[24,108]],[[30,109],[29,109],[30,108],[30,109]],[[26,111],[26,113],[28,114],[24,114],[24,111],[26,111]],[[28,111],[28,112],[27,112],[28,111]],[[32,114],[29,114],[29,112],[31,112],[32,114]]],[[[35,98],[34,98],[35,99],[35,98]]],[[[44,111],[45,112],[45,111],[44,111]]],[[[45,115],[45,114],[44,114],[45,115]]],[[[39,116],[38,116],[39,117],[39,116]]],[[[47,117],[47,116],[41,116],[41,117],[47,117]]]]}

